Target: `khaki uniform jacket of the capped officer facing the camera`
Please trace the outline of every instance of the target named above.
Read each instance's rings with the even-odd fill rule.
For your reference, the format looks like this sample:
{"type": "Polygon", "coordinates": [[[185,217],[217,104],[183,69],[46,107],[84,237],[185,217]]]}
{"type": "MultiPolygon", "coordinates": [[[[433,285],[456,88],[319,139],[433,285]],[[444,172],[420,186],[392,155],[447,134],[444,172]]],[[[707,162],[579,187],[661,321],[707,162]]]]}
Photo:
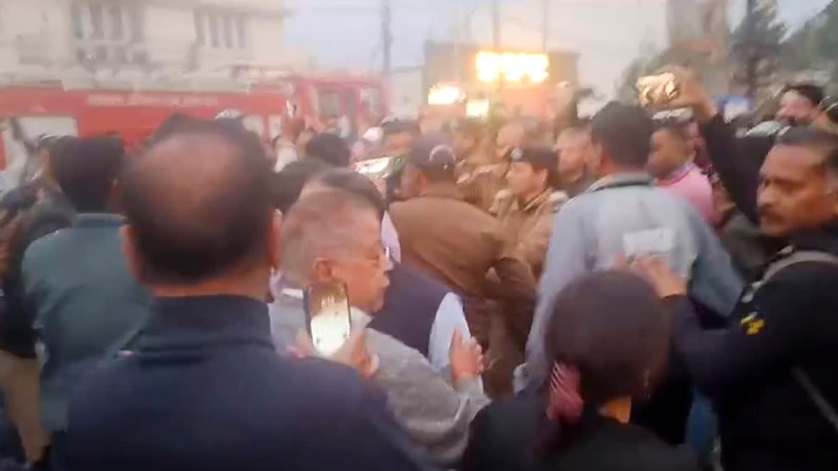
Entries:
{"type": "Polygon", "coordinates": [[[552,189],[523,206],[509,190],[501,191],[495,198],[492,212],[513,246],[512,253],[530,265],[536,279],[544,268],[553,220],[566,201],[565,192],[552,189]]]}

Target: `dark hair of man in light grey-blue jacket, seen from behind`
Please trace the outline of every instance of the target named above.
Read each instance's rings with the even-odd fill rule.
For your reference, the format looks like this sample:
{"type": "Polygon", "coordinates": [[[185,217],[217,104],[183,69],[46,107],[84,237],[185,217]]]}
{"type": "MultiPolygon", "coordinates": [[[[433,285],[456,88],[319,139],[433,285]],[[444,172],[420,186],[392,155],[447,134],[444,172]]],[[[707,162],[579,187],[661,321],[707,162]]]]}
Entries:
{"type": "Polygon", "coordinates": [[[593,116],[591,138],[615,163],[644,168],[651,153],[652,118],[640,106],[611,101],[593,116]]]}

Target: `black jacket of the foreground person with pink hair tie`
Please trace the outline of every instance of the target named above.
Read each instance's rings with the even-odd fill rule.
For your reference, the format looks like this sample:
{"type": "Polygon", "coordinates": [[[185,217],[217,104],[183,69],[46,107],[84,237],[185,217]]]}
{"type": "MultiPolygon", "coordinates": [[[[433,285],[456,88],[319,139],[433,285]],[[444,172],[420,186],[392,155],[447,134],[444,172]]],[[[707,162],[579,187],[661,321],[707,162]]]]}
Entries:
{"type": "Polygon", "coordinates": [[[541,451],[549,427],[545,402],[517,396],[495,402],[472,422],[463,471],[696,471],[695,458],[651,432],[587,411],[564,448],[541,451]]]}

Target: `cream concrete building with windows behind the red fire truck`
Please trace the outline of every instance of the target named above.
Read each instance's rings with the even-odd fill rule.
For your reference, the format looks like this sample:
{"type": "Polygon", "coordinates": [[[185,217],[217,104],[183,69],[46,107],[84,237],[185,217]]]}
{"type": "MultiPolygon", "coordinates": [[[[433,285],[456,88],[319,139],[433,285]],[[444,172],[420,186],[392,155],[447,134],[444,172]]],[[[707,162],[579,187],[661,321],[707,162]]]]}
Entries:
{"type": "Polygon", "coordinates": [[[2,0],[0,84],[230,78],[241,67],[299,70],[282,0],[2,0]]]}

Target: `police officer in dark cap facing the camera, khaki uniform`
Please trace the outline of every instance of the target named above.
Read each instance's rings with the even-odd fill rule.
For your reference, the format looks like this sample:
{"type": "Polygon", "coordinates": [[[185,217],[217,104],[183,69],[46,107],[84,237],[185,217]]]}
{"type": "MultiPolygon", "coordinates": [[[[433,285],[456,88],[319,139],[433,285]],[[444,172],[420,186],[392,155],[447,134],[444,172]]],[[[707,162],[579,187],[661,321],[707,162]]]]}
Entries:
{"type": "Polygon", "coordinates": [[[515,148],[506,173],[509,185],[497,194],[493,212],[515,246],[513,253],[541,275],[553,220],[567,194],[556,190],[557,156],[547,147],[515,148]]]}

